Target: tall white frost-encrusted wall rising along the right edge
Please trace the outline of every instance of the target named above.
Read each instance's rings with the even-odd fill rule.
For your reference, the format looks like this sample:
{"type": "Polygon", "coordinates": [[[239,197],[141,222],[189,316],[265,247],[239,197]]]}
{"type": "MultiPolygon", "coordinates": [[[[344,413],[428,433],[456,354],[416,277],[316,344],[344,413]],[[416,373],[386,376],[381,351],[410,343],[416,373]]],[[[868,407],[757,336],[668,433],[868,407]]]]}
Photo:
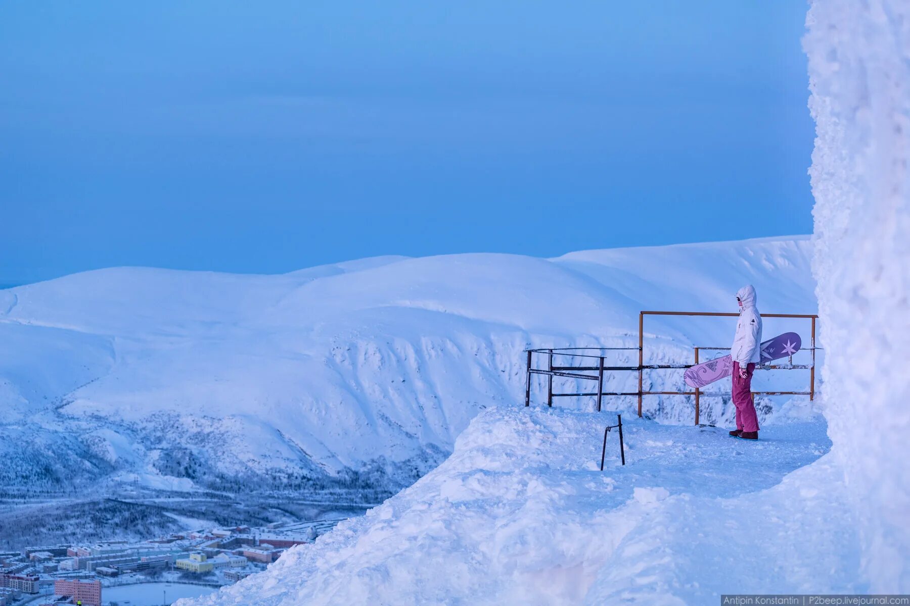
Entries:
{"type": "Polygon", "coordinates": [[[814,0],[825,414],[873,591],[910,592],[910,0],[814,0]]]}

